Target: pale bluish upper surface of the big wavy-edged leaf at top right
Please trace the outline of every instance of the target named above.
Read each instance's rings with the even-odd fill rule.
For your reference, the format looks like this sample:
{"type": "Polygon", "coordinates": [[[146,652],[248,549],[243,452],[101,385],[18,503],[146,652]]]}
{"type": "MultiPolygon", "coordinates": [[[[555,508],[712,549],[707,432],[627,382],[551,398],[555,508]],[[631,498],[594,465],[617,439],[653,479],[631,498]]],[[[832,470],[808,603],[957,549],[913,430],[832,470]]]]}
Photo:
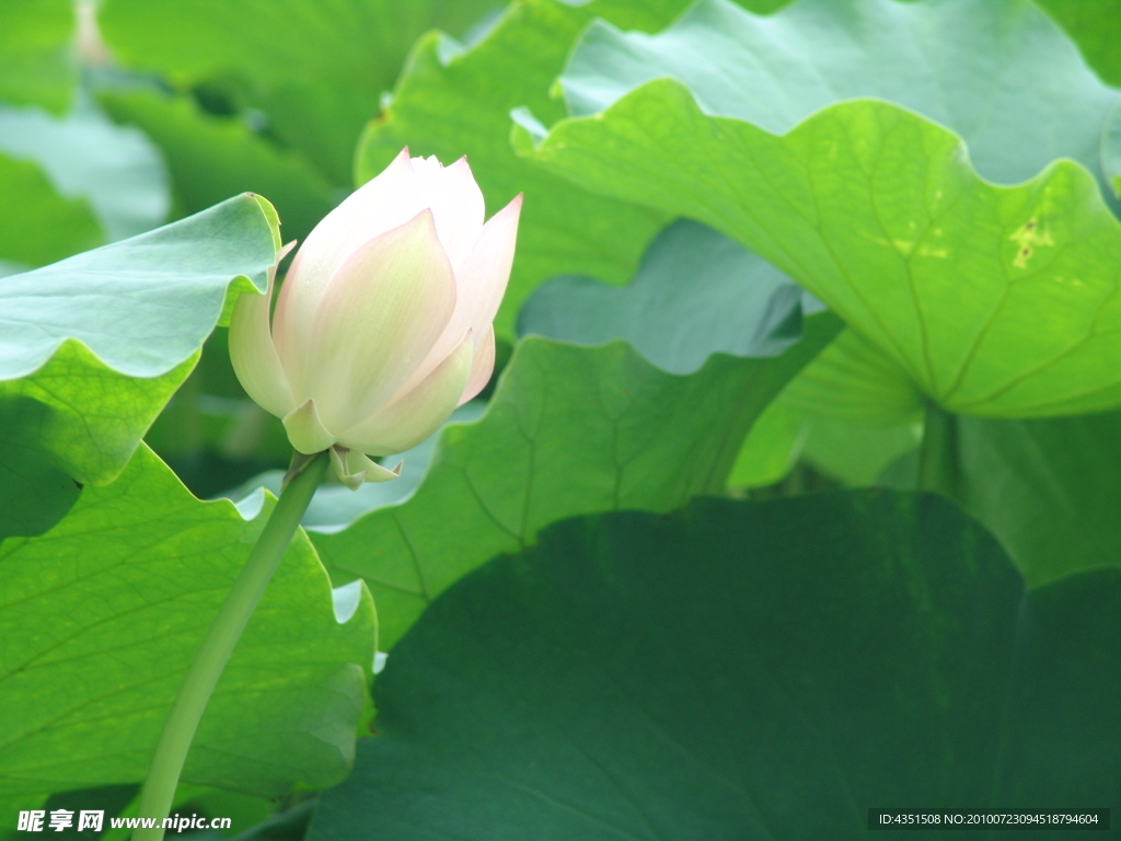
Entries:
{"type": "Polygon", "coordinates": [[[1097,173],[1102,126],[1121,99],[1018,0],[803,0],[766,18],[702,0],[656,36],[595,21],[559,84],[584,117],[663,77],[705,113],[773,135],[844,100],[895,102],[961,135],[978,172],[1001,183],[1060,157],[1097,173]]]}

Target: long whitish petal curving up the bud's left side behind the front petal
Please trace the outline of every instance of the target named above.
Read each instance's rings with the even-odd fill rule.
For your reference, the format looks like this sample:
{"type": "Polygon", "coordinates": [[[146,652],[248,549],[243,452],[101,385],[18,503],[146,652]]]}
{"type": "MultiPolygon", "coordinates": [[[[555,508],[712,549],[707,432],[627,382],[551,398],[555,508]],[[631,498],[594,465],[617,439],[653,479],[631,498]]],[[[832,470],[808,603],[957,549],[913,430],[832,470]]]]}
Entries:
{"type": "Polygon", "coordinates": [[[315,227],[296,253],[277,301],[272,333],[285,370],[298,373],[319,298],[342,265],[363,244],[427,206],[409,150],[402,149],[378,177],[351,193],[315,227]]]}

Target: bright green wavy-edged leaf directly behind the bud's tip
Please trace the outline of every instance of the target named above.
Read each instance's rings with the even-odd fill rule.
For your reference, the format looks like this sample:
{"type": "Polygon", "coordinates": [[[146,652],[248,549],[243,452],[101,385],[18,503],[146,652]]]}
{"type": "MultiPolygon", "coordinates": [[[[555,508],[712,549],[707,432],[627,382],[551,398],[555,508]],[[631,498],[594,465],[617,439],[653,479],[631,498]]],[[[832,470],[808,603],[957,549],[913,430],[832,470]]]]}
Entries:
{"type": "Polygon", "coordinates": [[[423,39],[381,117],[358,149],[356,176],[381,172],[402,146],[414,155],[450,161],[466,155],[493,213],[526,194],[518,253],[502,308],[500,336],[512,338],[529,292],[562,274],[621,284],[630,279],[647,243],[668,221],[633,205],[575,188],[510,148],[510,111],[528,105],[543,119],[559,119],[563,105],[548,96],[580,30],[600,16],[629,28],[665,26],[687,0],[556,0],[512,3],[473,48],[451,53],[438,36],[423,39]]]}

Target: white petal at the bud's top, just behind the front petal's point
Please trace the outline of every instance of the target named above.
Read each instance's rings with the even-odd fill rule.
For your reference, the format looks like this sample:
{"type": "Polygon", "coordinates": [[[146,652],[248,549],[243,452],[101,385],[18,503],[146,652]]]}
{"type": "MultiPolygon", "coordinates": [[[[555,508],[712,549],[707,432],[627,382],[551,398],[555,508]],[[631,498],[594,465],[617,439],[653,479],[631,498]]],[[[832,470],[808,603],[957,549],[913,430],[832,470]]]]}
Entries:
{"type": "Polygon", "coordinates": [[[436,215],[436,232],[447,259],[458,271],[483,229],[483,194],[475,184],[466,158],[441,166],[435,157],[413,158],[413,169],[436,215]]]}

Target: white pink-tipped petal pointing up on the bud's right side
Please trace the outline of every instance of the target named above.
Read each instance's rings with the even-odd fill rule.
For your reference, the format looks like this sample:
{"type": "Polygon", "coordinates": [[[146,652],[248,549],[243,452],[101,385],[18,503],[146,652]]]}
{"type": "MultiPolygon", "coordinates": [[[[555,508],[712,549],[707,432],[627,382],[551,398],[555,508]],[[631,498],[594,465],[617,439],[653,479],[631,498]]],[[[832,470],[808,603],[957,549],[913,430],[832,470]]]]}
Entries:
{"type": "Polygon", "coordinates": [[[483,225],[474,249],[455,272],[455,312],[447,329],[406,382],[405,389],[413,388],[446,359],[463,331],[473,331],[476,350],[487,340],[488,329],[494,321],[502,295],[506,294],[506,285],[510,280],[520,216],[519,195],[483,225]]]}

